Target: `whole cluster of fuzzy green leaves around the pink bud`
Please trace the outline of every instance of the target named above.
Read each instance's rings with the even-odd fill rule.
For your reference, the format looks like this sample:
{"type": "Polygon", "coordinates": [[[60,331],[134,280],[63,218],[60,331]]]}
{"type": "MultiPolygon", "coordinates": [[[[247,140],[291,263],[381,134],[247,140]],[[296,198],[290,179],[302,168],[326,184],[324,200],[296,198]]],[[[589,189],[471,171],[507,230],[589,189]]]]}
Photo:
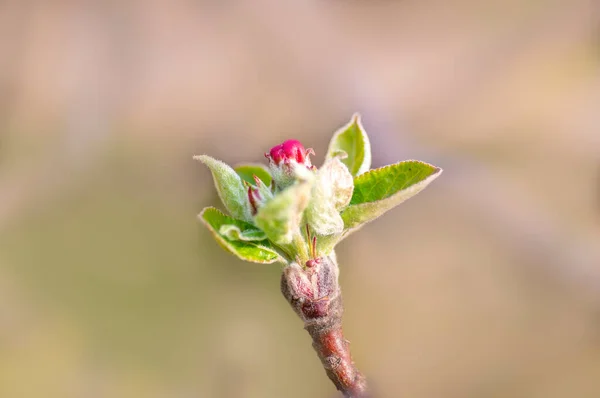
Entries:
{"type": "Polygon", "coordinates": [[[195,159],[211,170],[228,213],[207,207],[200,220],[225,250],[256,263],[328,255],[348,234],[414,196],[442,172],[416,160],[371,170],[371,145],[358,115],[333,135],[319,169],[272,159],[269,168],[232,168],[207,155],[195,159]],[[258,208],[251,192],[261,199],[258,208]]]}

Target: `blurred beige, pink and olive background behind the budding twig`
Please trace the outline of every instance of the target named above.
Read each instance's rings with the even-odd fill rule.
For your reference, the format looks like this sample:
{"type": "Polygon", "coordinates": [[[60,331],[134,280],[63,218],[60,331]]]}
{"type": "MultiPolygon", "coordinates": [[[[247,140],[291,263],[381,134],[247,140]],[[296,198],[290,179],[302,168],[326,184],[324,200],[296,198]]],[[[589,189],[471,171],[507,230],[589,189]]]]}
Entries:
{"type": "Polygon", "coordinates": [[[600,396],[600,7],[0,2],[0,397],[336,396],[196,214],[209,172],[360,112],[444,168],[338,247],[378,397],[600,396]]]}

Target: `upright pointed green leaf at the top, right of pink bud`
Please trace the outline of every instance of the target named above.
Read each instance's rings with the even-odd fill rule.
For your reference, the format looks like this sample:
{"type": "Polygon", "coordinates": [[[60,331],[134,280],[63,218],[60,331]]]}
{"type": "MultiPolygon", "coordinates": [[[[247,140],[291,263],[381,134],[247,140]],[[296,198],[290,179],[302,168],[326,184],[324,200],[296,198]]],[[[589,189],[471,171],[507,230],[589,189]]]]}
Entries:
{"type": "Polygon", "coordinates": [[[334,158],[341,152],[348,155],[342,162],[353,176],[365,173],[371,167],[371,144],[358,113],[352,116],[347,125],[333,134],[326,158],[334,158]]]}

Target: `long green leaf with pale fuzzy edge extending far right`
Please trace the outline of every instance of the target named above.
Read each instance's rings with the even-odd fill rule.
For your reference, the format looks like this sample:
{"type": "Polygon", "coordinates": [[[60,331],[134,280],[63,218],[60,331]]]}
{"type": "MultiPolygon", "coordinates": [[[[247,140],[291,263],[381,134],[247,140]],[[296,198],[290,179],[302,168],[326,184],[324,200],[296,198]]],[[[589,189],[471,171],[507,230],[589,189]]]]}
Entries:
{"type": "Polygon", "coordinates": [[[342,213],[344,236],[416,195],[441,173],[439,167],[407,160],[356,177],[350,206],[342,213]]]}

